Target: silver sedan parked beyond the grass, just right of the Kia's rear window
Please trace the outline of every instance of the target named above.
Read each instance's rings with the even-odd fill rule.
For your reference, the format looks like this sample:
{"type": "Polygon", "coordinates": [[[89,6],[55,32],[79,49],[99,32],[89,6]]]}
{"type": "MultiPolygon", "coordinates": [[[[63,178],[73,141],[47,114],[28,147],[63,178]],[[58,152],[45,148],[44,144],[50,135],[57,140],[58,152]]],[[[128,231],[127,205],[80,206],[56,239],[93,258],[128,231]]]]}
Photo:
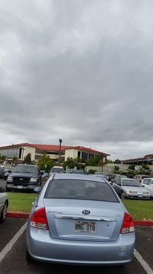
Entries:
{"type": "Polygon", "coordinates": [[[119,177],[113,183],[113,188],[122,199],[150,199],[150,192],[135,179],[119,177]]]}

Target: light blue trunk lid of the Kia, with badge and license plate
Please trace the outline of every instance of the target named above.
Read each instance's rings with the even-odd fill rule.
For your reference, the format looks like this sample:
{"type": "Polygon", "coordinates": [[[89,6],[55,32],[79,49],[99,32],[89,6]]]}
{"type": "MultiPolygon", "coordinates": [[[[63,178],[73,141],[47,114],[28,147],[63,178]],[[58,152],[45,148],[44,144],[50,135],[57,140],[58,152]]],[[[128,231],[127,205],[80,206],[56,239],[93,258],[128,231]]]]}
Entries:
{"type": "Polygon", "coordinates": [[[120,234],[124,218],[120,203],[44,199],[44,206],[53,238],[113,241],[120,234]]]}

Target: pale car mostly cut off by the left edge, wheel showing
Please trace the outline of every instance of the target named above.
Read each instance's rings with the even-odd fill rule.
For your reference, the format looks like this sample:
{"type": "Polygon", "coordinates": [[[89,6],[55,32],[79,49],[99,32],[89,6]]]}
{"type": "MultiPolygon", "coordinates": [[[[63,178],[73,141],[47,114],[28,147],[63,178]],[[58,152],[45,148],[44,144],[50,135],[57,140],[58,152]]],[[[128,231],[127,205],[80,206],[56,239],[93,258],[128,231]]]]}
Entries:
{"type": "Polygon", "coordinates": [[[0,223],[5,221],[5,217],[8,209],[8,194],[5,188],[0,187],[0,223]]]}

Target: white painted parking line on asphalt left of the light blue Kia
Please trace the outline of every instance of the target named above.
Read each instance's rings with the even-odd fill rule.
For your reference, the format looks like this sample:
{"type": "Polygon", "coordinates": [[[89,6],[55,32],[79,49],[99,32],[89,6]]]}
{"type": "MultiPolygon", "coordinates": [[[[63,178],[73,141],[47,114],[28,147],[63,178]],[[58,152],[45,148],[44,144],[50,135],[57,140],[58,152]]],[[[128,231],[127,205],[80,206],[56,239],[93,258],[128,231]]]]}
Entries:
{"type": "Polygon", "coordinates": [[[10,242],[8,242],[8,245],[6,245],[4,247],[4,249],[1,251],[1,253],[0,253],[0,262],[3,260],[3,258],[6,256],[6,254],[10,251],[10,249],[12,249],[12,247],[16,243],[16,240],[18,240],[18,238],[23,234],[26,227],[27,227],[27,222],[25,223],[25,225],[23,225],[23,227],[20,228],[20,230],[18,230],[16,235],[10,240],[10,242]]]}

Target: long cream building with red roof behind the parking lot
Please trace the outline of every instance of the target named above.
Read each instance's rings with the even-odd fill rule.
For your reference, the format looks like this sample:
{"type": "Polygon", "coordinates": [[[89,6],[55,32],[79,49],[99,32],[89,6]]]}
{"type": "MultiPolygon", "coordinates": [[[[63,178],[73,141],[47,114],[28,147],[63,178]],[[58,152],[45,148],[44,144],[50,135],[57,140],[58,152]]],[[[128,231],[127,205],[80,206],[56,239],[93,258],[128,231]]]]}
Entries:
{"type": "Polygon", "coordinates": [[[46,153],[46,155],[49,155],[50,158],[55,160],[55,162],[58,162],[59,151],[61,160],[66,160],[68,157],[73,159],[79,157],[81,160],[85,161],[89,158],[94,158],[96,154],[101,154],[102,157],[106,159],[109,155],[102,151],[96,151],[94,149],[81,146],[72,147],[61,145],[60,147],[59,145],[31,144],[28,142],[0,147],[1,156],[5,155],[6,159],[16,157],[20,161],[23,161],[25,156],[28,153],[31,153],[31,160],[38,162],[42,155],[46,153]]]}

